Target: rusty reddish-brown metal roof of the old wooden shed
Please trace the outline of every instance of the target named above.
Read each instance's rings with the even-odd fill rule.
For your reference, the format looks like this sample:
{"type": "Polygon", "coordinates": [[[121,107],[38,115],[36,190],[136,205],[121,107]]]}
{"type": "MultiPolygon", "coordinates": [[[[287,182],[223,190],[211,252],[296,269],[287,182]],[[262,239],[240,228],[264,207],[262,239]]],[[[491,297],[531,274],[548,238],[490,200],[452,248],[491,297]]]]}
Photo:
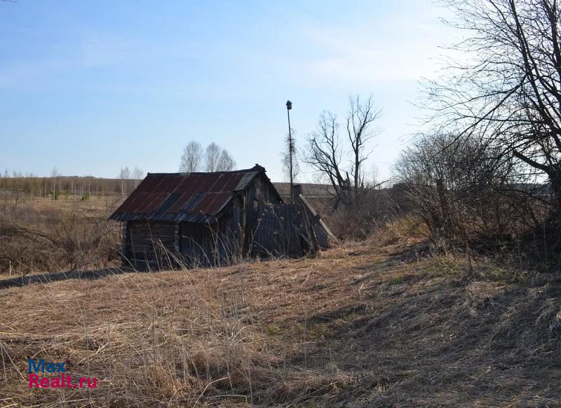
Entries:
{"type": "Polygon", "coordinates": [[[217,173],[149,173],[110,220],[211,222],[265,169],[217,173]]]}

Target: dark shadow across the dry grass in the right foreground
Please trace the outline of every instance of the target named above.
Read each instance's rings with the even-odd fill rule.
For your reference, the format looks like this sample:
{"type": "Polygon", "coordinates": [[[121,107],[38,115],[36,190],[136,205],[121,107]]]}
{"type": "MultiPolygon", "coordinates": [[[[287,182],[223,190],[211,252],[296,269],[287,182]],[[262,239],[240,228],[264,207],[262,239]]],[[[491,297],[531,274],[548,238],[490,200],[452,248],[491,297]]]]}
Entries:
{"type": "MultiPolygon", "coordinates": [[[[411,282],[418,281],[400,285],[411,289],[411,282]]],[[[345,393],[302,398],[353,407],[553,406],[560,398],[561,282],[478,281],[500,289],[489,295],[477,285],[468,291],[474,282],[435,282],[396,299],[381,286],[377,297],[300,320],[306,337],[290,365],[330,381],[353,377],[342,384],[345,393]]]]}

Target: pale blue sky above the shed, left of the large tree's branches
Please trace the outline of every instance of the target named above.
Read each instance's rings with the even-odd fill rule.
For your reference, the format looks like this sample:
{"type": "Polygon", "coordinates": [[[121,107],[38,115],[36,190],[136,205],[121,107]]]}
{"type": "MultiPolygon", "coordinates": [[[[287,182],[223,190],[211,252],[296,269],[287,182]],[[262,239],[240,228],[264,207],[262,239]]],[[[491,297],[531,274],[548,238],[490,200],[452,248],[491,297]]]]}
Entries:
{"type": "MultiPolygon", "coordinates": [[[[283,178],[351,94],[383,109],[369,168],[386,178],[450,30],[431,1],[0,1],[0,169],[115,177],[177,171],[190,140],[283,178]]],[[[313,181],[303,169],[302,181],[313,181]]]]}

